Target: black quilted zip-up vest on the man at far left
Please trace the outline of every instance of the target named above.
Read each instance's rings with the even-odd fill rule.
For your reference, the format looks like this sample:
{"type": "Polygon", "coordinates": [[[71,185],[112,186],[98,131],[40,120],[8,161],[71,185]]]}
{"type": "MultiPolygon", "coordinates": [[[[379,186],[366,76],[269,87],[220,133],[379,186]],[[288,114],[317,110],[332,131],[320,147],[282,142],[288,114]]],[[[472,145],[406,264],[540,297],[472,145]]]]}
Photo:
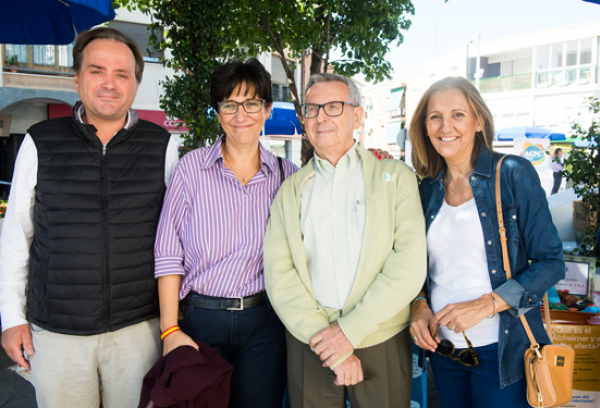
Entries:
{"type": "Polygon", "coordinates": [[[158,316],[153,246],[169,133],[145,121],[103,148],[74,118],[29,129],[38,152],[27,319],[77,335],[158,316]]]}

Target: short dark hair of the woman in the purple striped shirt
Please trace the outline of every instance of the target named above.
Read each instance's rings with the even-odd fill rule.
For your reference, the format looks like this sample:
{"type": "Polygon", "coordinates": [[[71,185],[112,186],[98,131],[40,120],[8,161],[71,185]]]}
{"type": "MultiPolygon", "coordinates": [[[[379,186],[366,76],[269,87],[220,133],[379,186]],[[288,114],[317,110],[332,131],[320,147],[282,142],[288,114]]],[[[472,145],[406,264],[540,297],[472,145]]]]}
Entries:
{"type": "Polygon", "coordinates": [[[210,78],[210,104],[219,112],[219,102],[229,98],[235,88],[246,85],[254,90],[253,97],[263,99],[267,106],[273,103],[271,74],[256,58],[246,61],[230,60],[215,69],[210,78]]]}

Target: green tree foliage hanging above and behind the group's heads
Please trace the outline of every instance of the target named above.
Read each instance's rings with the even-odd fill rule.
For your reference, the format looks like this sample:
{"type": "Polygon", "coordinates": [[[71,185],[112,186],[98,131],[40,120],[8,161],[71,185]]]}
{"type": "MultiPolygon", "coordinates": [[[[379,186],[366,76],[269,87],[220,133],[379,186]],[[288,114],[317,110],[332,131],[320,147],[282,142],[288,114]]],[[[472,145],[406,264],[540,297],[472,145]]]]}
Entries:
{"type": "MultiPolygon", "coordinates": [[[[363,73],[367,81],[390,78],[385,60],[390,44],[401,43],[401,30],[414,14],[410,0],[113,0],[116,7],[150,14],[154,29],[164,30],[161,50],[172,57],[163,64],[176,71],[164,82],[161,107],[184,120],[189,143],[203,144],[218,134],[207,115],[209,79],[221,61],[276,52],[288,77],[300,123],[300,92],[294,69],[308,58],[310,74],[363,73]],[[330,61],[333,49],[342,57],[330,61]],[[188,122],[189,120],[189,122],[188,122]]],[[[156,42],[158,39],[153,37],[156,42]]]]}

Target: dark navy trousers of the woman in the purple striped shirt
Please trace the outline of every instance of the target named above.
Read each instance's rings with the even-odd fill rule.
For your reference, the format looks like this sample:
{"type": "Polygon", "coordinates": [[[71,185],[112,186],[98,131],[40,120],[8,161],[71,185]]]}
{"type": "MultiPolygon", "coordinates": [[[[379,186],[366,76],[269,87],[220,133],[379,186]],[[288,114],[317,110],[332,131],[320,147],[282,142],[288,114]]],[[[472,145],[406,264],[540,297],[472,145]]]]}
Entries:
{"type": "Polygon", "coordinates": [[[229,407],[281,408],[286,384],[285,329],[271,305],[241,311],[180,307],[181,330],[213,347],[233,365],[229,407]]]}

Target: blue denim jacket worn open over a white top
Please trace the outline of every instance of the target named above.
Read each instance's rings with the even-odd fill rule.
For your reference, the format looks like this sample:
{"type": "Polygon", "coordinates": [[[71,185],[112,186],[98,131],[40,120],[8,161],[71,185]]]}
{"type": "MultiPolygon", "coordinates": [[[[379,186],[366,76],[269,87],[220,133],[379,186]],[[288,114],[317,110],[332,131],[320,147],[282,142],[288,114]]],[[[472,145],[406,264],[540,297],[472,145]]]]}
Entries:
{"type": "MultiPolygon", "coordinates": [[[[488,273],[494,291],[513,308],[500,313],[498,363],[500,387],[524,376],[523,353],[529,346],[518,315],[525,313],[535,339],[550,343],[544,330],[540,302],[544,292],[565,274],[562,242],[552,223],[546,193],[534,167],[518,156],[502,162],[501,193],[512,279],[506,279],[495,202],[496,165],[502,155],[482,149],[469,177],[486,241],[488,273]],[[531,261],[531,262],[530,262],[531,261]]],[[[421,182],[420,193],[427,231],[445,196],[442,178],[421,182]]]]}

